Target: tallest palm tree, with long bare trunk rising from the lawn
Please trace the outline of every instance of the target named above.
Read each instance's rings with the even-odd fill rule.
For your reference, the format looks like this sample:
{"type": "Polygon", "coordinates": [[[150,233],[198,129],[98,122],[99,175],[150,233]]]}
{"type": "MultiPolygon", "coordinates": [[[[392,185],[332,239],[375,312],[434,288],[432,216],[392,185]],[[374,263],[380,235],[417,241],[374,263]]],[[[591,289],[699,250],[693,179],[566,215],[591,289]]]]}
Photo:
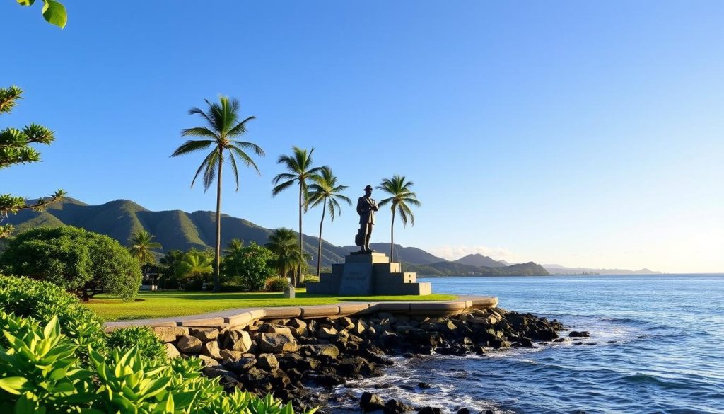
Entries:
{"type": "MultiPolygon", "coordinates": [[[[209,189],[214,178],[216,179],[216,257],[214,260],[214,291],[219,291],[219,268],[222,257],[222,166],[224,157],[228,156],[231,163],[234,178],[236,180],[236,191],[239,191],[239,172],[237,170],[236,157],[247,167],[253,167],[259,173],[258,167],[245,149],[251,149],[257,155],[264,155],[258,145],[246,141],[236,141],[234,138],[246,133],[246,123],[254,117],[248,117],[239,122],[239,102],[236,99],[229,99],[228,96],[219,96],[219,102],[213,104],[204,99],[209,105],[209,110],[203,112],[197,107],[189,109],[189,115],[199,115],[206,120],[205,126],[186,128],[181,131],[181,136],[198,136],[202,139],[189,140],[179,146],[172,157],[190,154],[198,150],[211,148],[196,170],[191,181],[195,183],[198,175],[203,171],[203,191],[209,189]]],[[[261,174],[261,173],[260,173],[261,174]]]]}

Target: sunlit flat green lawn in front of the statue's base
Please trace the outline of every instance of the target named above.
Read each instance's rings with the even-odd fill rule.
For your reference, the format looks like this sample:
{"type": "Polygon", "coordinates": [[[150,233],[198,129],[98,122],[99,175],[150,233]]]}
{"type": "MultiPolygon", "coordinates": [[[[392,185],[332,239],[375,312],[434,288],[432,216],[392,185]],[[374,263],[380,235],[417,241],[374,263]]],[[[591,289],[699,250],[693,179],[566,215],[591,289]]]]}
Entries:
{"type": "Polygon", "coordinates": [[[384,302],[384,301],[435,301],[452,300],[455,295],[431,294],[428,296],[363,296],[339,297],[308,295],[305,289],[298,289],[295,299],[285,299],[281,293],[243,292],[141,292],[135,302],[121,302],[105,295],[99,295],[88,303],[104,320],[130,320],[146,318],[166,318],[169,316],[195,315],[235,307],[275,307],[330,305],[337,302],[384,302]]]}

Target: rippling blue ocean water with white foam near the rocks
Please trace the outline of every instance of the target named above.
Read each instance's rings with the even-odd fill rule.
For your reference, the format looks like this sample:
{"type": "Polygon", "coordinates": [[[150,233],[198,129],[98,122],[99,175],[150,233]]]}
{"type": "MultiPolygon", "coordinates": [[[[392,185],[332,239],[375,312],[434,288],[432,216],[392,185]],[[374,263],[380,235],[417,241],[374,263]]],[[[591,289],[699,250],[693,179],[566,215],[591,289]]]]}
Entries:
{"type": "Polygon", "coordinates": [[[484,357],[397,358],[386,376],[337,388],[334,411],[371,391],[446,413],[724,413],[724,275],[424,281],[440,293],[497,296],[500,307],[591,337],[484,357]],[[421,381],[432,388],[418,389],[421,381]]]}

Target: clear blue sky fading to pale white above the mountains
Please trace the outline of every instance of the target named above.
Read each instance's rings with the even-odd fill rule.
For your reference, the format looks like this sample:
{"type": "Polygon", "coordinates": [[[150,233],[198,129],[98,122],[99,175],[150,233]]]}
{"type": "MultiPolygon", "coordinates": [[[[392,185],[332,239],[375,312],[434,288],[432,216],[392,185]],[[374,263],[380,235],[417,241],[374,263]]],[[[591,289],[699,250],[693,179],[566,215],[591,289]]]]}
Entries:
{"type": "MultiPolygon", "coordinates": [[[[227,94],[267,154],[261,177],[225,184],[229,215],[296,228],[271,178],[279,154],[314,147],[353,199],[414,181],[405,246],[724,271],[721,1],[64,3],[60,30],[39,4],[0,2],[0,81],[26,91],[0,126],[56,132],[43,162],[0,171],[0,192],[214,210],[213,189],[190,189],[202,155],[169,154],[200,123],[188,109],[227,94]]],[[[373,241],[389,241],[378,217],[373,241]]],[[[356,222],[345,209],[325,239],[353,244],[356,222]]]]}

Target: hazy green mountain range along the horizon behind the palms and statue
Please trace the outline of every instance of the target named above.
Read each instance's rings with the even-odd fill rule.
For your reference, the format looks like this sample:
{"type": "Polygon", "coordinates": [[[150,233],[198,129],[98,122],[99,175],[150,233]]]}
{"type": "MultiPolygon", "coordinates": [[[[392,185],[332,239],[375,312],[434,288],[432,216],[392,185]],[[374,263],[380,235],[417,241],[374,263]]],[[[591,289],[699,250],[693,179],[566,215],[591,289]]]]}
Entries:
{"type": "MultiPolygon", "coordinates": [[[[132,234],[146,230],[156,236],[155,241],[164,249],[213,249],[216,241],[215,214],[211,211],[183,212],[181,210],[150,211],[130,200],[119,199],[101,205],[88,205],[77,199],[66,198],[51,204],[43,212],[22,210],[17,215],[10,215],[4,224],[12,224],[16,232],[22,232],[41,225],[60,226],[74,225],[96,233],[106,234],[127,245],[132,234]]],[[[241,218],[222,215],[222,246],[231,239],[242,239],[247,243],[266,244],[271,233],[270,228],[251,223],[241,218]]],[[[304,235],[306,252],[312,254],[310,265],[316,267],[317,244],[315,236],[304,235]]],[[[356,246],[334,246],[322,239],[322,266],[344,262],[356,246]]],[[[377,252],[390,252],[389,243],[373,243],[370,245],[377,252]]],[[[582,273],[608,274],[614,270],[563,268],[557,265],[541,266],[534,262],[513,264],[504,260],[493,260],[482,254],[468,254],[455,261],[448,261],[434,256],[416,247],[402,247],[395,244],[395,261],[403,262],[404,270],[417,272],[424,276],[543,276],[550,273],[571,271],[582,273]],[[548,269],[548,270],[547,270],[548,269]],[[552,271],[553,270],[553,271],[552,271]]],[[[619,274],[634,273],[631,270],[615,270],[619,274]],[[625,273],[626,272],[626,273],[625,273]]],[[[647,269],[635,273],[657,273],[647,269]]]]}

